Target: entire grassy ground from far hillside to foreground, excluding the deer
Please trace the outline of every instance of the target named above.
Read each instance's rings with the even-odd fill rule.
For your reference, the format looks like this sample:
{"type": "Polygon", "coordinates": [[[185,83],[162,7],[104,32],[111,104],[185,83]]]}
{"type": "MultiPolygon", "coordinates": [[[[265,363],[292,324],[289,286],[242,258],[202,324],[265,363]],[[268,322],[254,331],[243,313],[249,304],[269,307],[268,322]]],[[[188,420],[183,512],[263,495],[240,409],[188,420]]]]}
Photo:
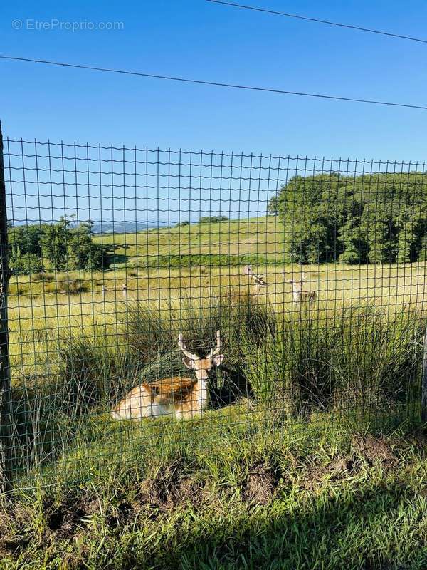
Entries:
{"type": "Polygon", "coordinates": [[[202,225],[97,237],[104,273],[12,278],[0,568],[425,568],[426,265],[305,266],[302,307],[274,218],[202,225]],[[265,257],[268,287],[139,263],[169,254],[265,257]],[[184,373],[180,331],[203,353],[218,328],[201,418],[112,422],[142,378],[184,373]]]}

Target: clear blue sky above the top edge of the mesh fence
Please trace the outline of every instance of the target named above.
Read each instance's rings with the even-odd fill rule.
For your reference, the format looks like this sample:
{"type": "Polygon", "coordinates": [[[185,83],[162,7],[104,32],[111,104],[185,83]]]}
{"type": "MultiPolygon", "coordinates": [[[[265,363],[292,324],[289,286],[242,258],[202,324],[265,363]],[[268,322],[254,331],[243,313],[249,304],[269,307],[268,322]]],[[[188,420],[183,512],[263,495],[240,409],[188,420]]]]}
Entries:
{"type": "MultiPolygon", "coordinates": [[[[425,0],[248,4],[427,37],[425,0]]],[[[1,5],[1,52],[136,71],[426,104],[427,45],[204,0],[1,5]],[[21,19],[15,31],[11,21],[21,19]],[[26,20],[122,21],[119,31],[26,20]]],[[[427,111],[183,85],[0,61],[5,135],[105,145],[423,160],[427,111]]]]}

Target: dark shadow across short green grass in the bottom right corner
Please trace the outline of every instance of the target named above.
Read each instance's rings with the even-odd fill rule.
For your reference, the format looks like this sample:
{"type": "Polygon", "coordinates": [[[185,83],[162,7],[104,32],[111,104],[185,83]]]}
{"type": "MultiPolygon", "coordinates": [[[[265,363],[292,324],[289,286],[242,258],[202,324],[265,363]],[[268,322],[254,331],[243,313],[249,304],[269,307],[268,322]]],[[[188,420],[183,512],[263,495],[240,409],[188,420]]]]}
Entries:
{"type": "MultiPolygon", "coordinates": [[[[404,482],[288,497],[267,507],[191,514],[159,550],[123,560],[123,569],[404,570],[427,567],[423,501],[404,482]],[[334,496],[335,495],[335,496],[334,496]],[[240,511],[240,512],[239,512],[240,511]],[[145,565],[144,565],[145,564],[145,565]]],[[[234,499],[237,500],[238,499],[234,499]]],[[[218,504],[224,506],[218,497],[218,504]]],[[[148,548],[147,548],[148,546],[148,548]]]]}

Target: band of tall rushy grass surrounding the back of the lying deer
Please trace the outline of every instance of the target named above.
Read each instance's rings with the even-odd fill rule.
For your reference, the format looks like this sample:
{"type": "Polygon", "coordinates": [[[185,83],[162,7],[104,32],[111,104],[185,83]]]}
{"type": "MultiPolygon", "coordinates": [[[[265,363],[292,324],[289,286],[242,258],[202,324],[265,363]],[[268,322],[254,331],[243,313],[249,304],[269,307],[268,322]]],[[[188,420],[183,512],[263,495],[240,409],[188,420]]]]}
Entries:
{"type": "Polygon", "coordinates": [[[116,323],[65,330],[50,375],[14,380],[18,484],[33,467],[43,471],[56,462],[91,418],[135,385],[188,375],[180,332],[203,355],[221,330],[226,360],[211,373],[212,414],[231,404],[242,423],[258,405],[268,415],[280,410],[290,422],[315,423],[324,413],[357,415],[360,425],[373,416],[379,424],[389,415],[418,418],[426,317],[411,307],[391,319],[374,304],[278,311],[250,295],[228,295],[207,305],[187,299],[169,306],[165,317],[161,309],[135,304],[116,323]]]}

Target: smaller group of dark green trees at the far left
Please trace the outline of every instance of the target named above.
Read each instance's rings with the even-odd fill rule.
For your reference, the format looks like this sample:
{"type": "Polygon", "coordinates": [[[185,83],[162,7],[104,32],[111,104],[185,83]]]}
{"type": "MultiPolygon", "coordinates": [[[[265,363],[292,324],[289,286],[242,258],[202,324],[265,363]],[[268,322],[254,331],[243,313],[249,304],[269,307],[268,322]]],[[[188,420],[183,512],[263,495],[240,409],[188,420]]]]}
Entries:
{"type": "Polygon", "coordinates": [[[92,222],[73,227],[61,217],[56,224],[9,227],[9,265],[17,274],[43,272],[46,269],[100,270],[108,266],[107,253],[95,244],[92,222]]]}

